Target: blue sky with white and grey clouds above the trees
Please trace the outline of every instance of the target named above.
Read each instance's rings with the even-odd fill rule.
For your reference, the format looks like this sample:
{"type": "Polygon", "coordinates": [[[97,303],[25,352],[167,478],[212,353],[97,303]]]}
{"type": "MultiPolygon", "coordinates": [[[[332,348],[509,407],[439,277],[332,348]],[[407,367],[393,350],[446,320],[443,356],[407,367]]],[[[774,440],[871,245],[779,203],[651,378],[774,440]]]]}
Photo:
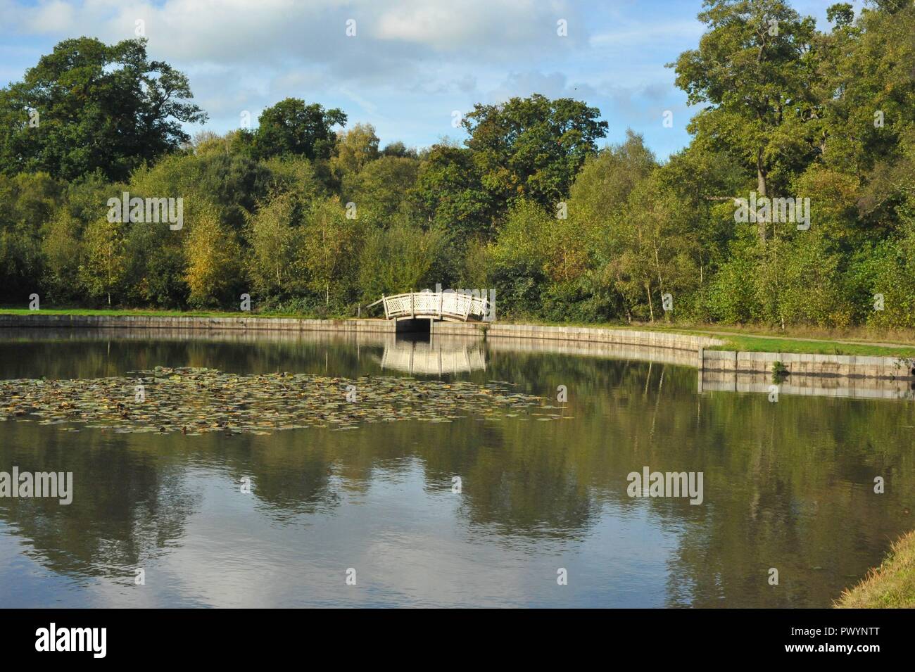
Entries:
{"type": "MultiPolygon", "coordinates": [[[[827,26],[837,0],[794,0],[827,26]]],[[[863,0],[854,0],[860,10],[863,0]]],[[[371,123],[382,146],[463,141],[473,104],[542,93],[596,106],[607,143],[641,133],[659,158],[696,112],[665,68],[703,33],[701,0],[0,0],[0,87],[67,37],[142,31],[150,59],[188,75],[224,133],[287,97],[371,123]],[[140,22],[140,23],[138,23],[140,22]],[[560,33],[565,32],[565,35],[560,33]],[[348,34],[349,33],[349,34],[348,34]],[[665,127],[664,112],[673,113],[665,127]]]]}

